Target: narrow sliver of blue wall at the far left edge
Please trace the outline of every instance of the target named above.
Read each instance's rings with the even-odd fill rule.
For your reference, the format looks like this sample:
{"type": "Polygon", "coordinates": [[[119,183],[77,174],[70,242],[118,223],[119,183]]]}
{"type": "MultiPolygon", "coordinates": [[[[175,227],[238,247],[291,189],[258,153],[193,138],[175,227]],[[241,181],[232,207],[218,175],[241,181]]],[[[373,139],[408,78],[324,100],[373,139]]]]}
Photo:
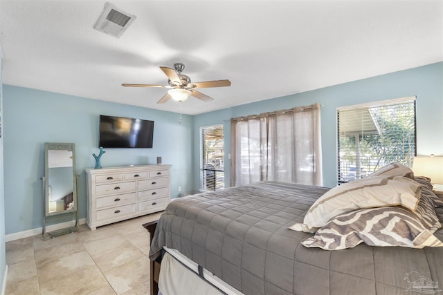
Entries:
{"type": "Polygon", "coordinates": [[[3,181],[3,95],[1,91],[1,49],[0,49],[0,292],[6,286],[3,286],[3,279],[5,278],[6,268],[6,251],[5,251],[5,191],[3,181]]]}

